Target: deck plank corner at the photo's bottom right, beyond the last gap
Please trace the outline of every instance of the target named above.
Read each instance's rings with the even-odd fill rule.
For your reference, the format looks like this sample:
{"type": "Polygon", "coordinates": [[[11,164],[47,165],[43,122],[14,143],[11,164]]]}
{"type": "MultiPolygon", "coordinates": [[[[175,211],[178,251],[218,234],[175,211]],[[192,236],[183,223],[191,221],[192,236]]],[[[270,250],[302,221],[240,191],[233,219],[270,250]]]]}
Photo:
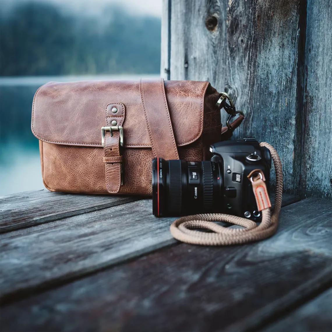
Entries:
{"type": "Polygon", "coordinates": [[[286,318],[266,327],[267,332],[331,332],[332,289],[326,290],[312,301],[302,305],[286,318]]]}

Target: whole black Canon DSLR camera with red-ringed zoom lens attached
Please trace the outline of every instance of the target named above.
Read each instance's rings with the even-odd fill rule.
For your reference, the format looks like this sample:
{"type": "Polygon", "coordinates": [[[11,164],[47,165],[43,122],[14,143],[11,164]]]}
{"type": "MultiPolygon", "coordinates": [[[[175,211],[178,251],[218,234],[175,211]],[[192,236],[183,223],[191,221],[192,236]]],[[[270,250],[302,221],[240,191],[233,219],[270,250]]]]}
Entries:
{"type": "Polygon", "coordinates": [[[153,214],[227,213],[261,219],[247,176],[261,169],[269,191],[270,151],[254,138],[218,142],[209,150],[207,161],[153,159],[153,214]]]}

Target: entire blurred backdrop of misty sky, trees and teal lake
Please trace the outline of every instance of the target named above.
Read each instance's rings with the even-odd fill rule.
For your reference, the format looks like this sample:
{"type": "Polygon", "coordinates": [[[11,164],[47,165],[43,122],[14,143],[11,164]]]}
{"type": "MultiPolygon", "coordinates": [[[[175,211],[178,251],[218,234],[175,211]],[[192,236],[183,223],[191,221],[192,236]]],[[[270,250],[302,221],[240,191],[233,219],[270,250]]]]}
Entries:
{"type": "Polygon", "coordinates": [[[161,0],[0,0],[0,196],[43,188],[30,127],[42,84],[159,76],[159,9],[161,0]]]}

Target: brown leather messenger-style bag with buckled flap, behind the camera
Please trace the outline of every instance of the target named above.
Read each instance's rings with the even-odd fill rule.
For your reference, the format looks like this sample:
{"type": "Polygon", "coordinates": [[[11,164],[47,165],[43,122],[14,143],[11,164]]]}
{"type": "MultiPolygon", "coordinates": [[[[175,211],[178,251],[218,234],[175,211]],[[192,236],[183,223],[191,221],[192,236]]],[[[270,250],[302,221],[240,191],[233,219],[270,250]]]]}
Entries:
{"type": "MultiPolygon", "coordinates": [[[[49,82],[36,92],[32,131],[51,191],[151,195],[151,160],[207,159],[222,131],[209,82],[49,82]]],[[[227,129],[227,130],[226,130],[227,129]]]]}

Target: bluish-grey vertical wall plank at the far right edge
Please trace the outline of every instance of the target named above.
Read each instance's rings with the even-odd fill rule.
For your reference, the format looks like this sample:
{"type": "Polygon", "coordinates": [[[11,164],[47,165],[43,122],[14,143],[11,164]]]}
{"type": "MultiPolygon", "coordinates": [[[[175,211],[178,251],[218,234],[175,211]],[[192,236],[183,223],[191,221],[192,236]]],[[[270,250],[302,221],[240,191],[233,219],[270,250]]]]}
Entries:
{"type": "Polygon", "coordinates": [[[301,194],[332,197],[332,2],[308,1],[301,194]]]}

